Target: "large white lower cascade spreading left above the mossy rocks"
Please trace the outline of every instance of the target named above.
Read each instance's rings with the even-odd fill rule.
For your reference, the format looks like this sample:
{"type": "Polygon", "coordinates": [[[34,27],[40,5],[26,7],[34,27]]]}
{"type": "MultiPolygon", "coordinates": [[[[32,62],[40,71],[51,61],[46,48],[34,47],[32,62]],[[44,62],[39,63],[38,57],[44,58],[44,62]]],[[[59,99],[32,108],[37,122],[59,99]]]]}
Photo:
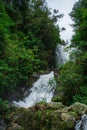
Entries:
{"type": "Polygon", "coordinates": [[[43,100],[51,102],[55,86],[56,82],[53,71],[49,74],[41,75],[30,89],[29,96],[23,101],[13,101],[13,103],[18,107],[28,108],[43,100]]]}

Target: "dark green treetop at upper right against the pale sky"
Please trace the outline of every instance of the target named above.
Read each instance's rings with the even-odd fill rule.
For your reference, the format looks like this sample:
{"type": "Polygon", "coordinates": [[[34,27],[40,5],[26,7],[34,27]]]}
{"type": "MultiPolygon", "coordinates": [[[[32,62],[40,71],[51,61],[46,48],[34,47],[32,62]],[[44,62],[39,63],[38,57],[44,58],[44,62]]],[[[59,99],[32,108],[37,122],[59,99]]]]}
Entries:
{"type": "Polygon", "coordinates": [[[71,46],[77,47],[81,51],[87,51],[87,1],[79,0],[76,2],[70,16],[74,21],[75,31],[71,46]]]}

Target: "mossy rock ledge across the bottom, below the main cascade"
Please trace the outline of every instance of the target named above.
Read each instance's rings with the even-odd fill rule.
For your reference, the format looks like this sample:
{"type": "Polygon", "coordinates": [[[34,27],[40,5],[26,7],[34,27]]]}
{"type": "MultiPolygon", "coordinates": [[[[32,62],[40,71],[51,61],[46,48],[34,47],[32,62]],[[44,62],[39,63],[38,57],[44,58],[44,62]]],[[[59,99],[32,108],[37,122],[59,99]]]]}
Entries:
{"type": "Polygon", "coordinates": [[[87,113],[87,105],[75,103],[67,107],[52,102],[28,109],[13,106],[10,110],[4,118],[6,130],[74,130],[76,120],[87,113]]]}

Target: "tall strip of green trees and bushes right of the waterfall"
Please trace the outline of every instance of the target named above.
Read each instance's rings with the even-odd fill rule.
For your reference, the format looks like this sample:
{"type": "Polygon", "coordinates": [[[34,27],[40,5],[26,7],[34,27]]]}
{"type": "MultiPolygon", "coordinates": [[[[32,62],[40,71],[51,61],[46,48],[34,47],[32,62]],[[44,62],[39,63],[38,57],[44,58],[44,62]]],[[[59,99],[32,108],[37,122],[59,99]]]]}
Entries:
{"type": "Polygon", "coordinates": [[[75,101],[87,104],[87,0],[76,2],[70,16],[75,34],[71,59],[60,69],[62,101],[67,105],[75,101]]]}

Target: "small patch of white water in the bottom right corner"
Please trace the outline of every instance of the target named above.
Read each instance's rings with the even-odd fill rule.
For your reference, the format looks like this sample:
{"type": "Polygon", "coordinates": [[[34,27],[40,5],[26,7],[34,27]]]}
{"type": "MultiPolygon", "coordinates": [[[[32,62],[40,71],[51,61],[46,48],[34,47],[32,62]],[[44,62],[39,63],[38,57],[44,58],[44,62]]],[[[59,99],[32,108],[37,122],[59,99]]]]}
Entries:
{"type": "Polygon", "coordinates": [[[75,130],[87,130],[87,115],[84,114],[80,121],[76,123],[75,130]]]}

